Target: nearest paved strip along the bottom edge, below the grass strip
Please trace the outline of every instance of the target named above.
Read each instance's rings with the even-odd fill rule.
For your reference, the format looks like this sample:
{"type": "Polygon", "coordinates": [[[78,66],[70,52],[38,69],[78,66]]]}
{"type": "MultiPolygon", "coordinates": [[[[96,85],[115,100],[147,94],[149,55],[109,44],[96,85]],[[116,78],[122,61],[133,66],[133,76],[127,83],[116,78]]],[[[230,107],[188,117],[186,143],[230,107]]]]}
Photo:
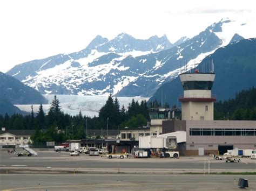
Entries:
{"type": "MultiPolygon", "coordinates": [[[[6,174],[0,188],[9,190],[240,190],[238,175],[100,175],[6,174]]],[[[242,175],[255,190],[253,175],[242,175]]]]}

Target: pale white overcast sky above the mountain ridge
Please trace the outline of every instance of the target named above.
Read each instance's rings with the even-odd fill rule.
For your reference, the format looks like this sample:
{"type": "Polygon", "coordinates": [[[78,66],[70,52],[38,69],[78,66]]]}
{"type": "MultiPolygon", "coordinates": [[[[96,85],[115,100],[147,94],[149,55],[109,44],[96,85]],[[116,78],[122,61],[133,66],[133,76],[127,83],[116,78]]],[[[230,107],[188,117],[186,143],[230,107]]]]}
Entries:
{"type": "Polygon", "coordinates": [[[2,0],[0,71],[20,63],[84,49],[97,35],[125,32],[171,43],[193,37],[222,18],[256,22],[256,1],[238,0],[2,0]]]}

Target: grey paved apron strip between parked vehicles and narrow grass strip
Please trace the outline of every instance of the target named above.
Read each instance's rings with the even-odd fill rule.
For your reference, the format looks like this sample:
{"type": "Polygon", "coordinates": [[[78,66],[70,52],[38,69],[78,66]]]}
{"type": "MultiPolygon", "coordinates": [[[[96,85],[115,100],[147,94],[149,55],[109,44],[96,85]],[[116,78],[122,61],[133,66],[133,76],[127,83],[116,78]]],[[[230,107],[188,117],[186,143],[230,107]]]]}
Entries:
{"type": "Polygon", "coordinates": [[[211,157],[181,157],[179,159],[108,159],[90,157],[86,154],[70,157],[68,152],[38,152],[37,157],[16,157],[6,151],[0,151],[0,167],[52,167],[52,168],[158,168],[158,169],[203,169],[206,160],[210,160],[211,169],[230,169],[239,171],[256,171],[256,160],[242,159],[242,162],[226,163],[213,160],[211,157]]]}

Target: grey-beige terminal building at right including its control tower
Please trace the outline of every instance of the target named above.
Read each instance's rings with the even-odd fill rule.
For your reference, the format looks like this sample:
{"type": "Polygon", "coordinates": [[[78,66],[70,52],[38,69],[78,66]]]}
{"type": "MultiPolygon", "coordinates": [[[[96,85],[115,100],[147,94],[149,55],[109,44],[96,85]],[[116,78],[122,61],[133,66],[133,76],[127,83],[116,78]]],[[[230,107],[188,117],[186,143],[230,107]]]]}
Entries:
{"type": "MultiPolygon", "coordinates": [[[[180,74],[184,95],[182,120],[164,119],[162,133],[186,131],[185,155],[223,154],[232,149],[256,150],[256,121],[214,121],[211,89],[215,74],[180,74]]],[[[170,115],[169,115],[170,116],[170,115]]]]}

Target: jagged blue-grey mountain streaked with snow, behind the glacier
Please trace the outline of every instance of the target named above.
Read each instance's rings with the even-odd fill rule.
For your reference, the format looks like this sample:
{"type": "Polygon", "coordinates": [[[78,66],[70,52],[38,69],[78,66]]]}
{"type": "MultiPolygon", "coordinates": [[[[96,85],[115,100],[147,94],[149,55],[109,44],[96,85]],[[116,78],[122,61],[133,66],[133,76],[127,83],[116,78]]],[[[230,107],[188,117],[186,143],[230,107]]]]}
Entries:
{"type": "Polygon", "coordinates": [[[149,97],[184,70],[185,62],[187,70],[194,68],[230,43],[235,33],[251,38],[246,32],[245,23],[223,19],[191,39],[181,38],[178,46],[166,36],[146,40],[125,33],[112,40],[97,36],[82,51],[25,62],[8,74],[42,94],[149,97]]]}

